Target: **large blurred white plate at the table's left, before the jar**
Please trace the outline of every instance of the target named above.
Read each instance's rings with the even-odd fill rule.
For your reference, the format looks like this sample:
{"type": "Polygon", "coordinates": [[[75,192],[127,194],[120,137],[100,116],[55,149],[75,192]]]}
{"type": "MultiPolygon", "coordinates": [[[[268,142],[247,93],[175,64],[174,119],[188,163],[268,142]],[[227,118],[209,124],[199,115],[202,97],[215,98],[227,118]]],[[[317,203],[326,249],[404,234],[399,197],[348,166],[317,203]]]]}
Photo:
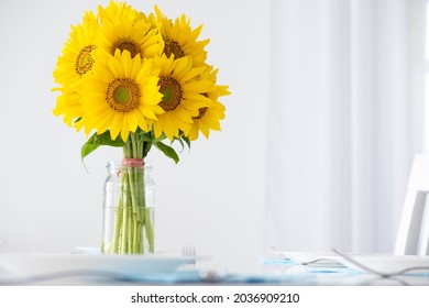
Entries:
{"type": "Polygon", "coordinates": [[[0,267],[15,276],[34,276],[69,271],[102,271],[131,277],[170,273],[193,261],[189,257],[105,254],[0,254],[0,267]]]}

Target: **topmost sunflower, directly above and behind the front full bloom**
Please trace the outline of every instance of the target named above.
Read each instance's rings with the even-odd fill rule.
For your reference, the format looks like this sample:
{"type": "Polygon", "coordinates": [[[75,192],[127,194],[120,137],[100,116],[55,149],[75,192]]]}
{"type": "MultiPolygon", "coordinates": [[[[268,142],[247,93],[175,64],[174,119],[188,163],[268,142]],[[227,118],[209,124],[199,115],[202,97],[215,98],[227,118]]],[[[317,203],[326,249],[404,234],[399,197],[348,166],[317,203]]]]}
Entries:
{"type": "Polygon", "coordinates": [[[140,55],[153,57],[161,55],[164,42],[148,19],[123,2],[111,1],[105,9],[98,8],[100,35],[97,46],[111,55],[116,51],[128,51],[132,57],[140,55]]]}

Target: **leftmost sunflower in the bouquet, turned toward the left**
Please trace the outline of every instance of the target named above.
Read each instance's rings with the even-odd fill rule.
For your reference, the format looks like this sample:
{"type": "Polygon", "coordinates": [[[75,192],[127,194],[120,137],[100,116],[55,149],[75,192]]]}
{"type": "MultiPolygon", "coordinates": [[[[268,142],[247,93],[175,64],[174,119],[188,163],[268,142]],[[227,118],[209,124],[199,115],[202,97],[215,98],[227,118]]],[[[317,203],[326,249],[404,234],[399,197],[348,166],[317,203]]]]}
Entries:
{"type": "Polygon", "coordinates": [[[92,52],[97,34],[97,19],[87,12],[81,24],[72,26],[68,41],[64,44],[63,55],[58,57],[54,70],[55,81],[64,87],[75,87],[80,78],[94,68],[92,52]]]}

